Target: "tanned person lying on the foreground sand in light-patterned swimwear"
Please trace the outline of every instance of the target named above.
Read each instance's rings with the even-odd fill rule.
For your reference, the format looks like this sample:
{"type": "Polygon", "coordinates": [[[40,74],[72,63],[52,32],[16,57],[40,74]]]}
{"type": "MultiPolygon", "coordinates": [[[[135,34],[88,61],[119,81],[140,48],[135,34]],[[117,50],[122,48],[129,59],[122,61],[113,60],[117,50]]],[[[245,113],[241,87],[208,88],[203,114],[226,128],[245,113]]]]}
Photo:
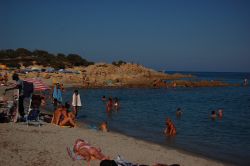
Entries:
{"type": "Polygon", "coordinates": [[[109,157],[106,157],[104,154],[102,154],[100,148],[96,148],[91,146],[88,142],[77,139],[75,142],[75,145],[73,147],[74,155],[70,153],[70,149],[67,148],[67,151],[70,155],[70,157],[73,160],[76,160],[78,156],[81,156],[88,162],[88,166],[90,166],[90,161],[97,159],[97,160],[106,160],[109,159],[109,157]]]}

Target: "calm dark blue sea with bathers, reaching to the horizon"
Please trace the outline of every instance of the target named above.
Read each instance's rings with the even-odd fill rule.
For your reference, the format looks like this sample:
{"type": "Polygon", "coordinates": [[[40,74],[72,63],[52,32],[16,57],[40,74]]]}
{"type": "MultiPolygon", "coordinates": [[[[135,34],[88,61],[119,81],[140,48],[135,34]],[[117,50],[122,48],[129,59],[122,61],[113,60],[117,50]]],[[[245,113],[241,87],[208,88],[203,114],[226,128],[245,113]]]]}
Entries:
{"type": "MultiPolygon", "coordinates": [[[[184,73],[184,72],[183,72],[184,73]]],[[[229,83],[250,81],[250,73],[185,72],[196,80],[229,83]]],[[[234,165],[250,165],[250,86],[168,89],[80,89],[84,107],[79,120],[92,126],[107,121],[112,131],[179,148],[234,165]],[[107,114],[101,97],[118,97],[121,108],[107,114]],[[183,110],[177,119],[176,109],[183,110]],[[223,119],[212,121],[212,110],[222,108],[223,119]],[[170,117],[177,135],[163,134],[170,117]]],[[[70,101],[73,89],[64,94],[70,101]]]]}

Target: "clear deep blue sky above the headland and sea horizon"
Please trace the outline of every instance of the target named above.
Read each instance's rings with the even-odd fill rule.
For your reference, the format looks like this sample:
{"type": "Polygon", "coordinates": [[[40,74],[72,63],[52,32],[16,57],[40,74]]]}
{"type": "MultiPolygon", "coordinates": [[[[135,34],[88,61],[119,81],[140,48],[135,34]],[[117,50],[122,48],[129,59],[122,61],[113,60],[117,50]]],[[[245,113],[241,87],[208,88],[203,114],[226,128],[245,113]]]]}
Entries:
{"type": "Polygon", "coordinates": [[[0,49],[157,70],[250,72],[250,1],[0,0],[0,49]]]}

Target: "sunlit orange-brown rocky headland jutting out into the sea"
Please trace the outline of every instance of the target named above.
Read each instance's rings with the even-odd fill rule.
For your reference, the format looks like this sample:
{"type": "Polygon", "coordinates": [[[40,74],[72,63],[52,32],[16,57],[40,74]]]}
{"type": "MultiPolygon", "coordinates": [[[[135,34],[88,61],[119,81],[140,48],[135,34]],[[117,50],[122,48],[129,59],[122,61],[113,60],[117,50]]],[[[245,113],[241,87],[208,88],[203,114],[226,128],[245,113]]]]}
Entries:
{"type": "MultiPolygon", "coordinates": [[[[36,68],[44,68],[35,66],[36,68]]],[[[67,68],[72,72],[29,72],[21,78],[39,77],[52,86],[59,82],[65,87],[81,88],[167,88],[167,87],[217,87],[235,86],[220,81],[192,81],[193,75],[166,74],[138,64],[97,63],[87,67],[67,68]],[[185,80],[183,80],[185,78],[185,80]]]]}

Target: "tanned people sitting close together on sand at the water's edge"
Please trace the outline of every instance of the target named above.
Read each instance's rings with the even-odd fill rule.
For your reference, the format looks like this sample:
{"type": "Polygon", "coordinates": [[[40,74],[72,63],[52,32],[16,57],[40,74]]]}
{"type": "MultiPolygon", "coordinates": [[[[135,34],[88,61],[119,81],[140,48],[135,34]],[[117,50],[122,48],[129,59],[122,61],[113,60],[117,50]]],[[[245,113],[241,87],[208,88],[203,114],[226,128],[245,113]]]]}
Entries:
{"type": "Polygon", "coordinates": [[[51,123],[56,125],[59,124],[60,126],[70,125],[75,127],[75,116],[73,112],[69,111],[69,107],[70,105],[66,102],[65,106],[57,108],[54,112],[51,123]]]}

